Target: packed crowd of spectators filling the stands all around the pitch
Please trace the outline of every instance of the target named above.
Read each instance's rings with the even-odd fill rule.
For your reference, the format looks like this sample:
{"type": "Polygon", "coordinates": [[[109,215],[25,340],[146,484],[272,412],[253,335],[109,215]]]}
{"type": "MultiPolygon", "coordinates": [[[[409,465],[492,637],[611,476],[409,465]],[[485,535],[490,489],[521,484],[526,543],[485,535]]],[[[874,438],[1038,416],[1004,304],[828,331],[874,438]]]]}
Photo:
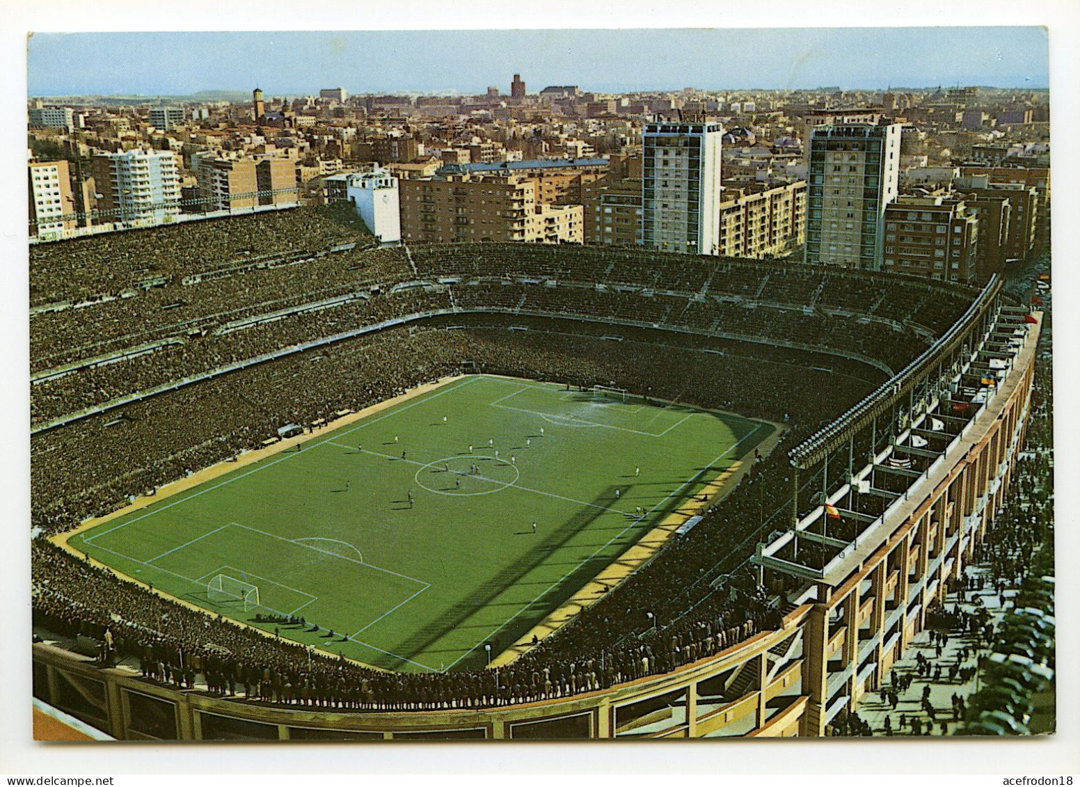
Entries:
{"type": "MultiPolygon", "coordinates": [[[[91,290],[110,291],[116,285],[130,286],[135,272],[148,266],[173,279],[132,298],[56,312],[57,325],[70,321],[64,328],[68,333],[62,331],[64,339],[59,341],[41,336],[40,328],[31,323],[33,352],[41,353],[40,357],[33,356],[36,368],[99,352],[91,352],[87,341],[104,341],[102,347],[117,348],[124,341],[135,344],[148,337],[168,336],[161,330],[162,321],[173,317],[161,314],[174,310],[163,309],[167,303],[161,301],[175,296],[159,295],[158,289],[165,294],[170,288],[184,288],[194,294],[191,304],[197,317],[191,323],[195,333],[186,334],[184,344],[132,361],[81,369],[35,386],[35,417],[62,415],[224,363],[446,304],[460,308],[475,303],[498,306],[509,312],[524,309],[600,317],[645,314],[637,322],[701,329],[706,328],[706,322],[712,324],[710,329],[718,329],[717,321],[741,320],[743,329],[756,328],[766,341],[794,334],[795,340],[820,342],[822,347],[859,334],[863,341],[875,345],[866,354],[893,359],[890,353],[897,352],[897,347],[909,356],[926,345],[924,340],[914,333],[903,333],[904,328],[897,335],[872,317],[903,325],[904,320],[917,314],[919,325],[940,333],[970,302],[970,294],[947,296],[948,290],[933,285],[916,287],[897,280],[890,286],[874,288],[859,274],[807,273],[771,263],[762,263],[765,268],[759,269],[758,263],[680,256],[666,264],[666,260],[650,261],[649,255],[637,252],[555,252],[531,245],[508,250],[491,244],[453,253],[441,247],[414,252],[418,275],[426,282],[414,287],[401,287],[411,275],[411,271],[409,275],[402,273],[407,262],[403,263],[396,253],[380,252],[378,270],[357,276],[367,287],[366,297],[224,331],[219,329],[237,320],[310,302],[312,295],[328,297],[349,291],[349,274],[342,272],[341,261],[369,254],[335,252],[302,262],[253,269],[238,261],[238,255],[244,250],[253,256],[280,252],[281,238],[276,239],[279,247],[271,248],[273,244],[265,243],[266,239],[255,241],[252,232],[232,225],[229,228],[226,238],[207,241],[206,248],[218,259],[207,259],[200,247],[198,264],[178,260],[185,255],[175,248],[170,252],[172,242],[159,246],[151,239],[145,245],[146,259],[135,260],[129,253],[121,255],[116,269],[111,269],[107,264],[108,255],[116,252],[111,246],[122,241],[108,241],[108,249],[77,253],[71,260],[60,260],[67,264],[62,270],[67,277],[51,288],[53,279],[44,270],[46,260],[39,260],[35,297],[41,302],[91,290]],[[199,270],[216,271],[232,263],[244,272],[214,273],[183,283],[199,270]],[[507,280],[511,275],[536,281],[507,280]],[[490,281],[491,276],[505,283],[490,281]],[[460,279],[448,281],[455,277],[460,279]],[[443,283],[438,284],[438,280],[443,283]],[[472,284],[472,280],[478,283],[472,284]],[[537,286],[540,281],[554,280],[558,286],[537,286]],[[597,287],[597,282],[629,284],[636,290],[597,287]],[[653,291],[650,295],[644,289],[653,291]],[[887,297],[890,293],[886,290],[901,293],[897,302],[904,304],[903,314],[891,311],[891,299],[887,297]],[[769,312],[771,320],[745,318],[744,313],[750,311],[745,304],[720,297],[733,294],[760,301],[764,306],[755,311],[769,312]],[[701,298],[692,301],[688,295],[701,298]],[[139,311],[152,299],[158,302],[156,312],[139,311]],[[809,308],[816,302],[842,304],[842,309],[864,314],[868,322],[810,317],[802,312],[802,306],[809,308]],[[702,316],[703,303],[715,308],[715,314],[702,316]],[[99,314],[108,315],[104,323],[98,321],[85,337],[78,337],[76,315],[90,315],[98,309],[103,310],[99,314]],[[815,328],[818,334],[807,325],[807,321],[814,320],[822,321],[815,328]],[[852,324],[858,327],[852,329],[852,324]],[[874,333],[877,330],[885,333],[874,333]],[[104,339],[95,338],[95,333],[104,339]],[[808,341],[807,336],[813,339],[808,341]],[[899,336],[904,336],[906,343],[899,336]],[[65,355],[63,348],[70,344],[82,349],[65,355]]],[[[173,228],[167,232],[177,229],[200,232],[205,228],[173,228]]],[[[316,234],[321,231],[314,230],[316,234]]],[[[326,235],[320,250],[355,238],[354,231],[352,235],[345,230],[334,232],[326,235]]],[[[185,242],[194,243],[191,239],[185,242]]],[[[314,250],[299,247],[295,240],[291,243],[294,245],[284,245],[286,250],[314,250]]],[[[60,252],[51,254],[64,256],[60,252]]],[[[349,270],[348,266],[345,270],[349,270]]],[[[38,623],[59,634],[82,634],[111,642],[113,655],[137,656],[149,679],[192,686],[198,675],[199,683],[216,693],[252,701],[399,709],[478,707],[606,688],[670,670],[778,625],[782,610],[757,587],[745,564],[757,539],[773,527],[778,512],[789,506],[785,449],[831,416],[852,406],[880,379],[872,375],[834,376],[829,369],[808,365],[806,356],[800,363],[798,353],[784,355],[775,347],[764,349],[760,357],[750,354],[745,347],[742,352],[721,353],[705,348],[704,337],[665,341],[660,331],[624,327],[619,328],[624,340],[611,342],[590,329],[572,330],[566,321],[545,322],[535,315],[522,320],[561,325],[562,333],[491,329],[483,320],[456,330],[387,329],[247,366],[39,433],[31,440],[36,532],[43,537],[69,528],[87,516],[113,511],[127,499],[151,492],[162,484],[259,448],[276,438],[279,426],[330,420],[335,413],[356,410],[420,383],[460,372],[467,365],[579,385],[613,383],[634,392],[649,391],[659,398],[783,421],[787,426],[783,442],[770,456],[753,463],[738,486],[710,507],[697,527],[676,537],[652,562],[557,635],[501,669],[400,675],[312,656],[299,644],[147,594],[43,538],[33,541],[32,549],[38,623]],[[806,395],[808,391],[813,395],[806,395]],[[723,579],[714,581],[717,578],[723,579]]],[[[494,648],[509,646],[516,636],[519,633],[507,630],[505,641],[495,641],[494,648]]]]}

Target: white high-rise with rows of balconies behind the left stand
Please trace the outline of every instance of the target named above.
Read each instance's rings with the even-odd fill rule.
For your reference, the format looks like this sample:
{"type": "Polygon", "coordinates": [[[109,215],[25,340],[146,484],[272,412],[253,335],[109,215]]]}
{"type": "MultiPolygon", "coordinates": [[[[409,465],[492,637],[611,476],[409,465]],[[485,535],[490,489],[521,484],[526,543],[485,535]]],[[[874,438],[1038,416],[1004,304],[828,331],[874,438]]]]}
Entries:
{"type": "Polygon", "coordinates": [[[105,221],[153,226],[180,212],[176,155],[166,150],[125,150],[91,159],[105,221]]]}

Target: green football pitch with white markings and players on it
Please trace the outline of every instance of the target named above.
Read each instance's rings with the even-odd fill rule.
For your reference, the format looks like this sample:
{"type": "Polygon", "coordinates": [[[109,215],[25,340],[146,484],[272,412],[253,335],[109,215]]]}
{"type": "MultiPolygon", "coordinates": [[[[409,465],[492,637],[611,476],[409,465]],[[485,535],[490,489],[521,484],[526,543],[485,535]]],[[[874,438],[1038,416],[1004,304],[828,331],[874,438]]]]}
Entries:
{"type": "Polygon", "coordinates": [[[302,616],[281,636],[367,664],[475,668],[772,430],[471,376],[70,544],[227,618],[302,616]]]}

